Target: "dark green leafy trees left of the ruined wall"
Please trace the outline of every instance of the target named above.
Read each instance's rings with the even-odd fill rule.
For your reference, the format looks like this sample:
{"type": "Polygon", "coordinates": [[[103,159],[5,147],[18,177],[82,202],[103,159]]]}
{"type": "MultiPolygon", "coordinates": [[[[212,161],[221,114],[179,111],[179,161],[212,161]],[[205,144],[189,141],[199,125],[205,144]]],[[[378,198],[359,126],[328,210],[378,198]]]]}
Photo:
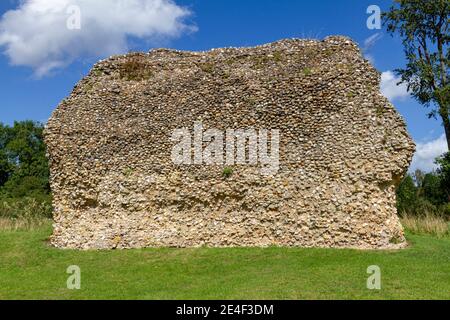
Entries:
{"type": "Polygon", "coordinates": [[[41,124],[33,121],[15,122],[13,126],[0,124],[0,203],[7,203],[0,208],[0,214],[9,210],[6,207],[28,208],[29,204],[23,203],[28,201],[25,199],[49,205],[49,168],[45,153],[41,124]]]}

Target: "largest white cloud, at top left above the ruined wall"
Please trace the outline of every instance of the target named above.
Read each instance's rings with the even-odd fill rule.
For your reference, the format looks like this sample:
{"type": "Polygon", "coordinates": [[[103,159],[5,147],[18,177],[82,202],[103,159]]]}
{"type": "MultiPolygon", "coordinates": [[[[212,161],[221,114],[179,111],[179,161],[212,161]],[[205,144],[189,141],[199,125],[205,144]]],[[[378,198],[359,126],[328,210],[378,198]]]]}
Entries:
{"type": "Polygon", "coordinates": [[[191,12],[172,0],[23,0],[0,18],[0,47],[10,63],[37,76],[80,57],[106,57],[129,50],[129,38],[158,41],[195,31],[191,12]],[[78,6],[81,29],[67,28],[78,6]]]}

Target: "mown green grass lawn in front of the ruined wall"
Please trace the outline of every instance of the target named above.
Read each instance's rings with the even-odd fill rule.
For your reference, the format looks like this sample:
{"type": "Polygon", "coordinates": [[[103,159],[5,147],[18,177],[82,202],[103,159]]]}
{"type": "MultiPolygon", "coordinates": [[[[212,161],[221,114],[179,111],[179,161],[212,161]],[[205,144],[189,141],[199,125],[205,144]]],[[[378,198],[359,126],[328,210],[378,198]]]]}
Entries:
{"type": "Polygon", "coordinates": [[[71,251],[50,226],[0,231],[0,299],[450,299],[450,238],[401,251],[300,248],[71,251]],[[81,290],[66,269],[81,268],[81,290]],[[366,269],[381,268],[381,290],[366,269]]]}

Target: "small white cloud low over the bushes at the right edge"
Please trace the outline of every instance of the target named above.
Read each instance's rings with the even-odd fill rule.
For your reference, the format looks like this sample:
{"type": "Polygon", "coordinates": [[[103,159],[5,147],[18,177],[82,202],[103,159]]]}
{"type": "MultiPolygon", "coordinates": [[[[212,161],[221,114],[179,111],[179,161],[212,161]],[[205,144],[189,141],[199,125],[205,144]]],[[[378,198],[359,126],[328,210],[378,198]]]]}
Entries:
{"type": "Polygon", "coordinates": [[[440,136],[436,140],[417,143],[416,153],[414,154],[410,171],[414,172],[416,169],[420,169],[425,172],[430,172],[437,169],[434,160],[447,151],[448,147],[445,135],[440,136]]]}

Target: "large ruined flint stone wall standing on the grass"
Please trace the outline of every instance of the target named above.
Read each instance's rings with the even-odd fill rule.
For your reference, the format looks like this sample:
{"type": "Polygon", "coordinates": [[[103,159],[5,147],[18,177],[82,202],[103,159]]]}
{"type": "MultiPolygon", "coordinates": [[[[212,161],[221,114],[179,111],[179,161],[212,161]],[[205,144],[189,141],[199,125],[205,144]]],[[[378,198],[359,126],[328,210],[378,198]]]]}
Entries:
{"type": "Polygon", "coordinates": [[[414,144],[344,37],[97,63],[45,139],[61,248],[405,244],[395,185],[414,144]],[[277,129],[279,170],[175,164],[176,129],[277,129]]]}

